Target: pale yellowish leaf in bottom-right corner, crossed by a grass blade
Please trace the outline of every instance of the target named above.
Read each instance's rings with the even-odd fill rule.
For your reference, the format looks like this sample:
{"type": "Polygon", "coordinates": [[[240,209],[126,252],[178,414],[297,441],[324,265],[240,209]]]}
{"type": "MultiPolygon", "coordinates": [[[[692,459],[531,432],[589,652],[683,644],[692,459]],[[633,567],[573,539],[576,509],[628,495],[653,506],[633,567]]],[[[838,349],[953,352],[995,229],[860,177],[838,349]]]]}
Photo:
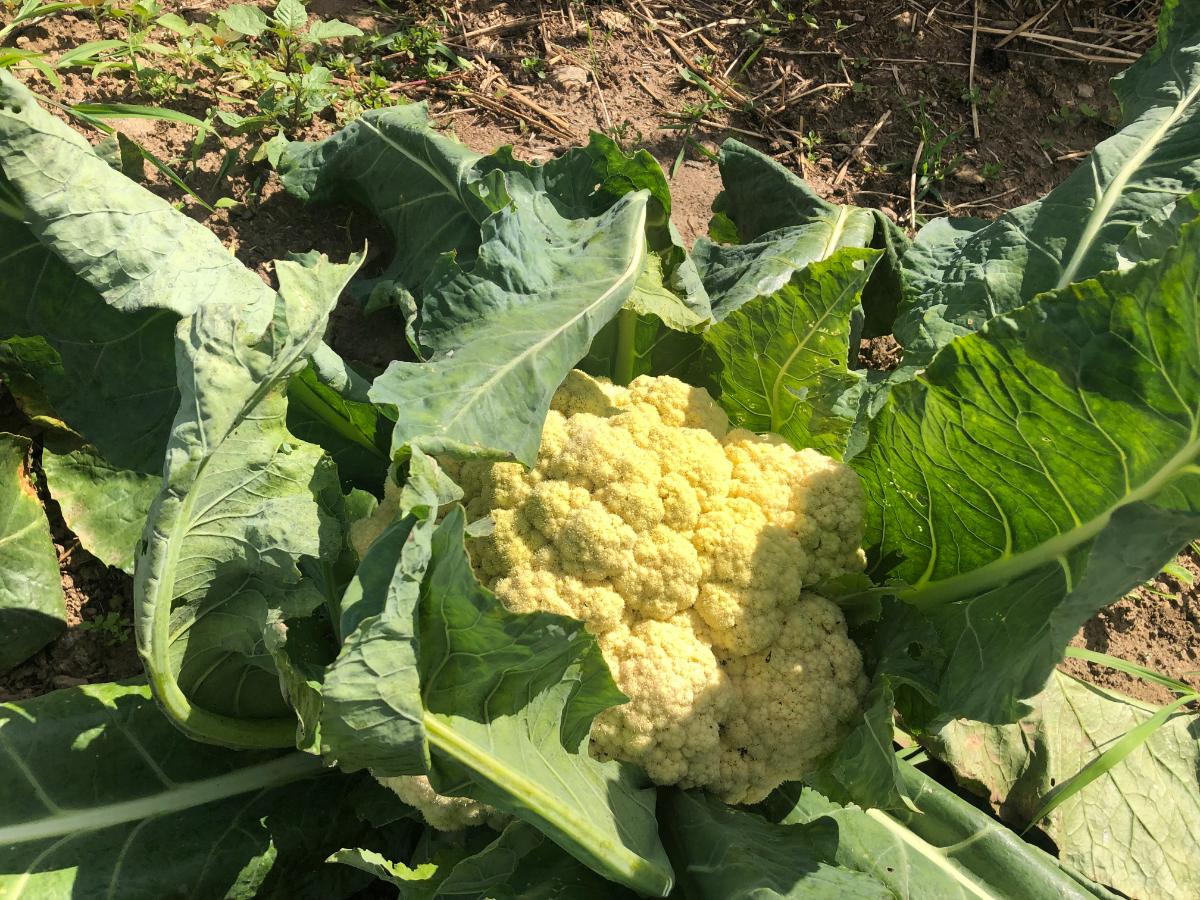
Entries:
{"type": "MultiPolygon", "coordinates": [[[[956,778],[1018,828],[1028,824],[1051,787],[1153,715],[1136,701],[1061,672],[1030,706],[1015,725],[960,719],[931,736],[956,778]]],[[[1129,896],[1200,895],[1195,730],[1195,715],[1172,716],[1039,823],[1063,863],[1129,896]]]]}

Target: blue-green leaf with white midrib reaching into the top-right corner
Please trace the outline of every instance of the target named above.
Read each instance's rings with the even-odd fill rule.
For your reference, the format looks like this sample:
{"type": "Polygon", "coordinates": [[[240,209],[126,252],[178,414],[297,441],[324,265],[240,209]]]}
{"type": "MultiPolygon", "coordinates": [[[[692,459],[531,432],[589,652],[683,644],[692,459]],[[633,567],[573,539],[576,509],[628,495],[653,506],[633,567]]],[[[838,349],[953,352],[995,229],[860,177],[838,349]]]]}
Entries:
{"type": "Polygon", "coordinates": [[[1114,269],[1130,229],[1200,187],[1200,7],[1169,0],[1158,43],[1114,79],[1123,125],[1046,197],[995,222],[934,222],[904,257],[910,364],[1044,290],[1114,269]]]}

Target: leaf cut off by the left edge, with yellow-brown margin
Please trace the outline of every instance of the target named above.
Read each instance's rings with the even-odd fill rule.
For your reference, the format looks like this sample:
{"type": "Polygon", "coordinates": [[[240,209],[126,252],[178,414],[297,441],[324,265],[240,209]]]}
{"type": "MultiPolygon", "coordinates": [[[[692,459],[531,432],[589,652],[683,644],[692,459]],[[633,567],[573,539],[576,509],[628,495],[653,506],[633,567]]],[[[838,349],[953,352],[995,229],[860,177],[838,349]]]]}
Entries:
{"type": "Polygon", "coordinates": [[[25,457],[29,439],[0,432],[0,672],[66,630],[59,554],[25,457]]]}

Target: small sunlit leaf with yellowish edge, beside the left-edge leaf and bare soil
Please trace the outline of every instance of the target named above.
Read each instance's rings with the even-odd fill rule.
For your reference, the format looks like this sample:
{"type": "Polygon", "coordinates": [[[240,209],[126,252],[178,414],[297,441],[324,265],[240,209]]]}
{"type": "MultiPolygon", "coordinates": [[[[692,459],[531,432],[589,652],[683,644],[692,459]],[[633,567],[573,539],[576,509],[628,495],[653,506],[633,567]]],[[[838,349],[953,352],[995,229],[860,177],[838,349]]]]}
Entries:
{"type": "Polygon", "coordinates": [[[133,574],[146,512],[162,482],[158,475],[119,469],[83,445],[42,450],[46,485],[83,548],[104,565],[133,574]]]}

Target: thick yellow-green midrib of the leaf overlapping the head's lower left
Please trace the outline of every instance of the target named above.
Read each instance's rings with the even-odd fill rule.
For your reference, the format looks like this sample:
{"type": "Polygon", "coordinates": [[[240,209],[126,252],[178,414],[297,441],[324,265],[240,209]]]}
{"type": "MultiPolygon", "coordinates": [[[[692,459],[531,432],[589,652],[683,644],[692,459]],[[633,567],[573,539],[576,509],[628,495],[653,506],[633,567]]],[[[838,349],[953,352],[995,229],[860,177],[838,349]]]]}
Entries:
{"type": "Polygon", "coordinates": [[[463,739],[440,716],[426,712],[424,724],[430,743],[438,750],[506,793],[520,798],[523,805],[535,810],[578,846],[589,848],[614,872],[624,875],[626,884],[655,890],[670,888],[670,878],[655,871],[647,860],[619,840],[594,828],[583,810],[572,809],[536,781],[527,778],[524,773],[505,766],[496,756],[463,739]]]}

